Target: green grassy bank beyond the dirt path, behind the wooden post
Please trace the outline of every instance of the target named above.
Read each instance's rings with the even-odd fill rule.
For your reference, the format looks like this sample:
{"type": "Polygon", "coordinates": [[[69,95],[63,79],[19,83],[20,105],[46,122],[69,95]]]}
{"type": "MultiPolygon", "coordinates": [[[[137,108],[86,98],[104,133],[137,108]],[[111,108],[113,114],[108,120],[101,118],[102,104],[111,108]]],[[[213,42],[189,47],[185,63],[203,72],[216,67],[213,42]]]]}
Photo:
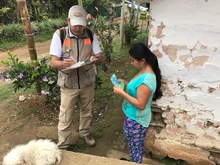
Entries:
{"type": "MultiPolygon", "coordinates": [[[[32,22],[31,30],[34,33],[34,41],[42,42],[51,39],[54,31],[63,26],[67,26],[66,18],[32,22]]],[[[0,50],[7,51],[26,45],[23,29],[24,26],[20,23],[7,24],[0,27],[0,50]]]]}

